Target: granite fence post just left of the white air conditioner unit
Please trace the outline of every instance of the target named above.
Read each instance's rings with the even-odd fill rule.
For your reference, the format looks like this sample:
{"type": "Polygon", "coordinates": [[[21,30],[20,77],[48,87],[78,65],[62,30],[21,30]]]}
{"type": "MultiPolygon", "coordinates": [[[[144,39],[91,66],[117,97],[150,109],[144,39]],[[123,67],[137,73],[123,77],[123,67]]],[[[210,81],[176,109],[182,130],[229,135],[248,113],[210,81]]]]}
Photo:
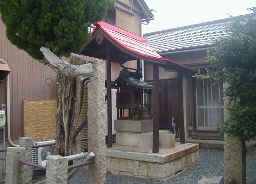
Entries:
{"type": "MultiPolygon", "coordinates": [[[[24,161],[32,163],[32,138],[30,137],[20,137],[19,146],[25,148],[24,161]]],[[[33,180],[33,168],[31,166],[24,165],[24,173],[22,183],[32,183],[33,180]]]]}

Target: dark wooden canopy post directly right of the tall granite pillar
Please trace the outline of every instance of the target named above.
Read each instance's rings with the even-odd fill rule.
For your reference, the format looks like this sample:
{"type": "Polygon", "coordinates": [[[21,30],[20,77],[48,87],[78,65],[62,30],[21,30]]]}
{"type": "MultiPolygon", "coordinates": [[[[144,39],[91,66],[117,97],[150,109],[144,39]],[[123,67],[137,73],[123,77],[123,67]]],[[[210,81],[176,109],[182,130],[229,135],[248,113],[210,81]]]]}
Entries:
{"type": "Polygon", "coordinates": [[[108,106],[108,143],[107,147],[112,148],[112,95],[111,95],[111,55],[110,43],[106,46],[106,94],[108,106]]]}

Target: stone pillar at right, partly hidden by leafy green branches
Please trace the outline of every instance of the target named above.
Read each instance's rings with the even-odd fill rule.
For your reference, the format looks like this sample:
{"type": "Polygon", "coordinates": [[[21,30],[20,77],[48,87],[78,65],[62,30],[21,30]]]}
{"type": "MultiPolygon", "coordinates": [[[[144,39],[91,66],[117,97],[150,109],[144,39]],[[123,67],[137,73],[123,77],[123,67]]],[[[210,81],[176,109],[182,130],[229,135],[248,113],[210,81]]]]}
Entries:
{"type": "MultiPolygon", "coordinates": [[[[223,84],[224,89],[224,121],[227,121],[230,114],[227,110],[229,107],[229,97],[225,96],[228,84],[223,84]]],[[[246,183],[246,147],[245,142],[238,138],[224,135],[224,183],[229,183],[230,179],[237,184],[246,183]]]]}

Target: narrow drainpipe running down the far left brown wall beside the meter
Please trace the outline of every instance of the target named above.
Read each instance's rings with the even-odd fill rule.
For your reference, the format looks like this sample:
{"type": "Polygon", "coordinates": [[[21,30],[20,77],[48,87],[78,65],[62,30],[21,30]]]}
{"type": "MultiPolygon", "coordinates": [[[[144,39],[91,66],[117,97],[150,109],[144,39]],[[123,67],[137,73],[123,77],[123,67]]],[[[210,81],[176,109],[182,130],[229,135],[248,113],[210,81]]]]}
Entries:
{"type": "MultiPolygon", "coordinates": [[[[4,64],[7,64],[7,62],[3,59],[0,58],[0,62],[4,63],[4,64]]],[[[8,64],[7,64],[8,65],[8,64]]],[[[7,135],[8,135],[8,142],[10,143],[11,146],[19,146],[19,145],[16,145],[12,142],[11,140],[11,128],[10,128],[10,74],[8,74],[7,78],[6,78],[6,83],[7,83],[7,135]]],[[[4,140],[5,141],[5,140],[4,140]]]]}

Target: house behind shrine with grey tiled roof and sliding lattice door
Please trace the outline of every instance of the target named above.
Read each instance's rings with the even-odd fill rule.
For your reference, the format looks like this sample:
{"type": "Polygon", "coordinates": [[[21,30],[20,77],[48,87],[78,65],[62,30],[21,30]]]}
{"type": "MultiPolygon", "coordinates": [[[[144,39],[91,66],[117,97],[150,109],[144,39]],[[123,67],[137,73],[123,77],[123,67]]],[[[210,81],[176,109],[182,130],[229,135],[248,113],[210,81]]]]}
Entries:
{"type": "MultiPolygon", "coordinates": [[[[244,17],[255,16],[255,13],[244,17]]],[[[202,24],[174,28],[144,34],[148,44],[165,58],[172,59],[191,68],[212,68],[207,63],[207,50],[214,47],[215,39],[226,37],[228,25],[235,17],[204,22],[202,24]]],[[[152,68],[145,63],[145,81],[152,82],[152,68]]],[[[161,129],[172,128],[171,119],[178,117],[177,73],[159,69],[163,107],[161,109],[161,129]]],[[[161,97],[160,97],[161,98],[161,97]]],[[[183,75],[184,123],[187,137],[219,136],[215,127],[224,120],[223,86],[212,85],[209,80],[198,80],[193,76],[183,75]]],[[[176,121],[179,124],[179,120],[176,121]]]]}

